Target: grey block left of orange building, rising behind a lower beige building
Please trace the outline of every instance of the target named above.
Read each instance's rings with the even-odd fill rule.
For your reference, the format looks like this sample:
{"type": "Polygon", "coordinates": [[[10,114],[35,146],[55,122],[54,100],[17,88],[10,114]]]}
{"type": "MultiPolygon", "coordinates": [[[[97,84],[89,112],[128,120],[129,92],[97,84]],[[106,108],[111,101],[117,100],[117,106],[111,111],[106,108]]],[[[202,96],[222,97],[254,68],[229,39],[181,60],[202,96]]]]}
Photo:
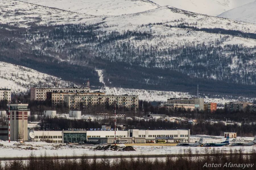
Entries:
{"type": "Polygon", "coordinates": [[[195,109],[204,110],[203,98],[170,98],[167,99],[167,104],[190,104],[195,105],[195,109]]]}

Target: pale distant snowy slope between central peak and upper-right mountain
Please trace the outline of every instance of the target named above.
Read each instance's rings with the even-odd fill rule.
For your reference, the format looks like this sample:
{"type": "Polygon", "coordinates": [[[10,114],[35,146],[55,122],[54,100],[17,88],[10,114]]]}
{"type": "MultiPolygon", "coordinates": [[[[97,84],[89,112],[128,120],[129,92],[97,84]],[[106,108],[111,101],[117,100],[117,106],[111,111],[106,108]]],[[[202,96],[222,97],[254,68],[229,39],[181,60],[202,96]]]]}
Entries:
{"type": "Polygon", "coordinates": [[[254,0],[152,0],[160,6],[170,5],[183,10],[217,16],[227,10],[245,5],[254,0]]]}

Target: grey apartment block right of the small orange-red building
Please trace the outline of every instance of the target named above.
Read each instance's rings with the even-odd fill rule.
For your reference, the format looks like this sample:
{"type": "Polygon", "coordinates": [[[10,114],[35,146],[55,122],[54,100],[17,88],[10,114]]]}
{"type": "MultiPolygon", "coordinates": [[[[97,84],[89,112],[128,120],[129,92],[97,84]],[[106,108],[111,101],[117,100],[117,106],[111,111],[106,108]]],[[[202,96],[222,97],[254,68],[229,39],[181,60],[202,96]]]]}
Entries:
{"type": "Polygon", "coordinates": [[[244,102],[244,101],[234,101],[225,103],[224,108],[227,111],[246,111],[249,105],[253,103],[244,102]]]}

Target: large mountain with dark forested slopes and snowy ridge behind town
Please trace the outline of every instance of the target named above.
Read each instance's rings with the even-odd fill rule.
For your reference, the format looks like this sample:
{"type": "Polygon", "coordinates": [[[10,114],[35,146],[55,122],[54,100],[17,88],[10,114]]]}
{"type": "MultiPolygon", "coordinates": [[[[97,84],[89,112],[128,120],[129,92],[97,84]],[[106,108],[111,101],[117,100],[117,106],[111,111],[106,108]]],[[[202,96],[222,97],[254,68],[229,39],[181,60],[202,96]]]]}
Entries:
{"type": "MultiPolygon", "coordinates": [[[[75,83],[95,76],[95,68],[104,69],[109,80],[105,88],[121,86],[106,91],[139,93],[145,88],[151,91],[144,90],[144,96],[154,94],[158,99],[172,97],[169,91],[184,97],[198,82],[204,84],[205,93],[220,89],[229,95],[228,87],[234,84],[235,92],[243,88],[240,94],[246,95],[256,84],[256,24],[159,7],[155,1],[24,1],[0,1],[0,22],[5,24],[0,25],[2,61],[11,58],[31,67],[31,60],[42,72],[49,68],[47,62],[61,63],[47,73],[73,78],[75,83]],[[78,66],[86,69],[80,71],[78,66]],[[65,71],[82,78],[66,76],[65,71]]],[[[195,2],[200,1],[190,1],[195,2]]],[[[235,0],[216,2],[230,8],[232,3],[240,5],[235,0]]],[[[100,82],[95,81],[96,86],[100,82]]]]}

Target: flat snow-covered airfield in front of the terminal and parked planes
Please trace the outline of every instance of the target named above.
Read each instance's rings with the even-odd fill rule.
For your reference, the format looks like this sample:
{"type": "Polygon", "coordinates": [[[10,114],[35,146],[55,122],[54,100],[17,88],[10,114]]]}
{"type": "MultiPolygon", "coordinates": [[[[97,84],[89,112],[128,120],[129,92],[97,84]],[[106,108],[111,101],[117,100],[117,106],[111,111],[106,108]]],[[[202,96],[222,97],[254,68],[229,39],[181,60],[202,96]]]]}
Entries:
{"type": "MultiPolygon", "coordinates": [[[[191,137],[191,139],[199,140],[198,137],[191,137]]],[[[220,137],[219,139],[210,139],[204,138],[204,143],[206,142],[222,142],[225,138],[220,137]]],[[[234,142],[249,142],[252,141],[253,137],[238,137],[237,139],[230,139],[230,143],[234,142]]],[[[155,155],[155,154],[183,154],[187,149],[191,149],[193,153],[204,154],[206,147],[181,147],[181,146],[133,146],[136,151],[101,151],[93,150],[96,145],[65,145],[65,144],[52,144],[46,142],[25,142],[20,144],[18,142],[12,141],[0,141],[0,158],[3,157],[28,157],[31,152],[36,156],[47,154],[49,156],[82,156],[86,154],[88,156],[93,155],[155,155]],[[31,150],[31,147],[33,150],[31,150]]],[[[119,144],[123,145],[124,144],[119,144]]],[[[222,146],[222,147],[207,147],[208,151],[219,150],[229,152],[230,150],[240,150],[242,149],[243,153],[250,153],[253,149],[256,149],[254,146],[222,146]]]]}

